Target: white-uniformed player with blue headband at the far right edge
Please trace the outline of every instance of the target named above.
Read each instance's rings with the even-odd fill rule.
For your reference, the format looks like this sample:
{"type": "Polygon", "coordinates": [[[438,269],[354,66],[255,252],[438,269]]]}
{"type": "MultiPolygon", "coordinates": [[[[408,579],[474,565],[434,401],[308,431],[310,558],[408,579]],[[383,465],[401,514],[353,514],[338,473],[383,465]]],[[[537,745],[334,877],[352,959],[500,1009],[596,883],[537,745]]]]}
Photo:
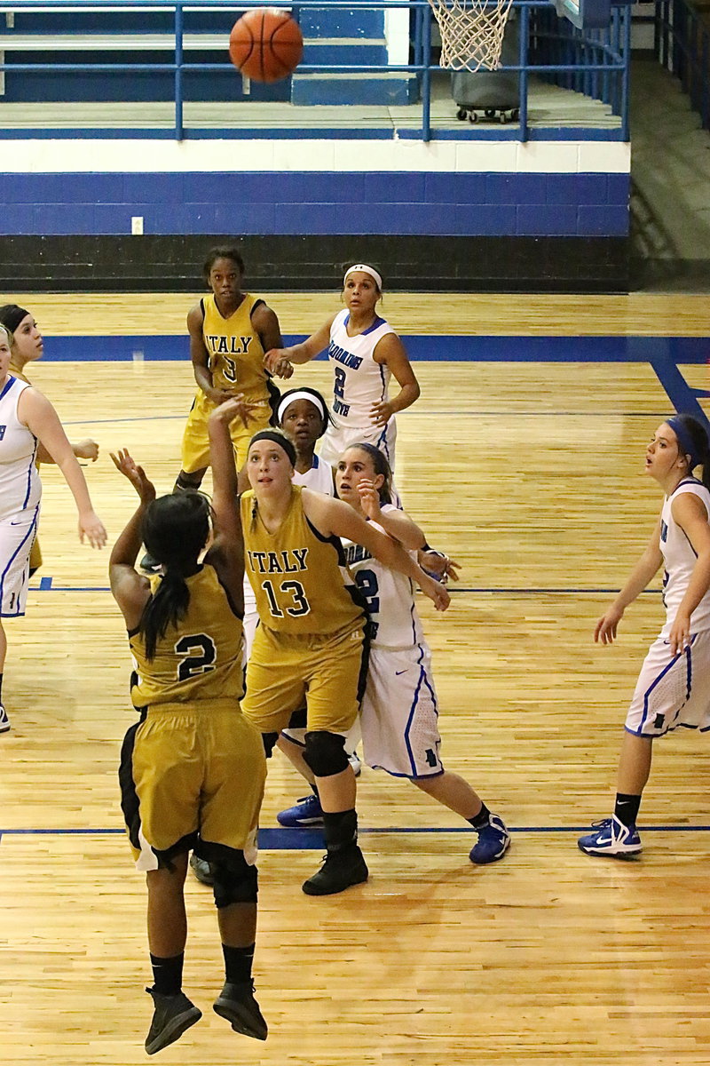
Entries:
{"type": "Polygon", "coordinates": [[[710,453],[690,415],[663,422],[646,448],[646,472],[664,492],[646,550],[594,640],[612,644],[625,609],[664,564],[665,625],[644,660],[626,717],[611,818],[580,837],[588,855],[625,858],[641,851],[637,819],[656,737],[678,726],[710,729],[710,453]],[[703,466],[703,480],[692,471],[703,466]]]}

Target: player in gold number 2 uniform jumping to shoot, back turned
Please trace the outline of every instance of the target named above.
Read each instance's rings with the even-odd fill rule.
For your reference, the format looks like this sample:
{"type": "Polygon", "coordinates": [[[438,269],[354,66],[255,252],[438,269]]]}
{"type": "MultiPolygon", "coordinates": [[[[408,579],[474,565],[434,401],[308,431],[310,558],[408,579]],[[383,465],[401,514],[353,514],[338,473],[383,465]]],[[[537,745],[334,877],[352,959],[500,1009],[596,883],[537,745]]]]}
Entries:
{"type": "Polygon", "coordinates": [[[136,868],[146,871],[148,886],[149,1054],[201,1017],[182,991],[184,882],[193,849],[210,863],[225,956],[214,1010],[238,1033],[267,1035],[251,980],[266,761],[261,737],[240,708],[244,554],[229,432],[240,410],[231,400],[210,417],[212,507],[199,492],[155,499],[128,452],[112,456],[141,498],[111,554],[111,589],[128,629],[131,695],[141,712],[123,741],[120,785],[136,868]],[[135,569],[142,538],[163,568],[150,580],[135,569]]]}

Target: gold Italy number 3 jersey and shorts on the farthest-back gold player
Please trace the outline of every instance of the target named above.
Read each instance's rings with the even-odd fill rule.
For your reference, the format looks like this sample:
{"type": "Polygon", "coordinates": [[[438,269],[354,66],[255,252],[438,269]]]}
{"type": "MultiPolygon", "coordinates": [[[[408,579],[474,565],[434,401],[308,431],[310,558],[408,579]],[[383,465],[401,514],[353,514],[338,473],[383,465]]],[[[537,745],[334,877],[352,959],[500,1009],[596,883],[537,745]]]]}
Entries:
{"type": "MultiPolygon", "coordinates": [[[[268,374],[264,369],[264,349],[251,323],[251,312],[263,300],[244,294],[244,300],[228,319],[220,314],[214,293],[200,301],[204,321],[202,339],[210,355],[210,372],[215,388],[241,392],[247,403],[259,404],[249,427],[234,419],[230,426],[236,463],[242,467],[247,458],[249,441],[254,433],[265,430],[271,417],[271,395],[268,374]]],[[[202,389],[198,389],[187,416],[182,438],[182,469],[185,473],[202,470],[210,465],[208,419],[215,409],[202,389]]]]}

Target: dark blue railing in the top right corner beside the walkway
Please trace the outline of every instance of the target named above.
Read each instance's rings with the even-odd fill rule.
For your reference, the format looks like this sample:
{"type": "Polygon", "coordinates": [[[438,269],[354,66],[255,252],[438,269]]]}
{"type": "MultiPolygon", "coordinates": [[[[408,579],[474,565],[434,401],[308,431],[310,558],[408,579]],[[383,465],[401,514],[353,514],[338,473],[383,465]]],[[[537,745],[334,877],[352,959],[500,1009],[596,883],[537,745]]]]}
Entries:
{"type": "Polygon", "coordinates": [[[703,129],[710,130],[710,12],[696,11],[688,0],[662,0],[654,46],[661,65],[680,79],[703,129]]]}

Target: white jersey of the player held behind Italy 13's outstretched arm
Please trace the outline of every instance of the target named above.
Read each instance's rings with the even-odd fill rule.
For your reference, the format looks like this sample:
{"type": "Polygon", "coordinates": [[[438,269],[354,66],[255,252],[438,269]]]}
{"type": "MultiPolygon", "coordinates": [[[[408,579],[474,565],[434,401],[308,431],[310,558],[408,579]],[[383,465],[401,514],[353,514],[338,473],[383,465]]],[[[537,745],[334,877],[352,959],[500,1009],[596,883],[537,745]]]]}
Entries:
{"type": "MultiPolygon", "coordinates": [[[[382,505],[383,512],[396,510],[391,503],[382,505]]],[[[377,522],[373,526],[384,533],[377,522]]],[[[343,540],[343,548],[356,584],[367,601],[367,613],[375,626],[373,646],[394,650],[423,644],[411,579],[373,559],[362,545],[343,540]]]]}

